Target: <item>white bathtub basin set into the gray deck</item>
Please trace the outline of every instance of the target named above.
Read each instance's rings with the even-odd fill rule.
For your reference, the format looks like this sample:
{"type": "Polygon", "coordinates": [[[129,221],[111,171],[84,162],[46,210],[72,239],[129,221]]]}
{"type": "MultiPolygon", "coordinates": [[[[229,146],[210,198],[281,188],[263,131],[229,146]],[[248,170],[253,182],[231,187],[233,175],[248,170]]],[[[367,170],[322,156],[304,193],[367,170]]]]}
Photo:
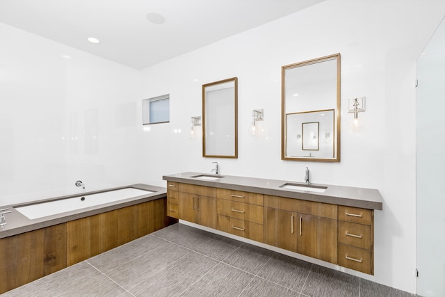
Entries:
{"type": "Polygon", "coordinates": [[[14,207],[19,213],[31,220],[43,218],[44,216],[53,216],[68,211],[95,207],[97,205],[134,198],[140,195],[147,195],[154,191],[141,190],[139,188],[120,188],[118,190],[106,191],[90,195],[79,195],[73,198],[65,198],[47,202],[30,204],[22,207],[14,207]]]}

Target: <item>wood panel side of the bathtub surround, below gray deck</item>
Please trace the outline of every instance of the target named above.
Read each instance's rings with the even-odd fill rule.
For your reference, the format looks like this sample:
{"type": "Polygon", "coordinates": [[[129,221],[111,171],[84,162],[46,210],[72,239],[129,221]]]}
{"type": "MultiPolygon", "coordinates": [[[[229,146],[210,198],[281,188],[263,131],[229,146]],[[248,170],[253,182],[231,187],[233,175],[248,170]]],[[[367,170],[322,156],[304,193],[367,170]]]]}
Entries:
{"type": "Polygon", "coordinates": [[[0,239],[0,294],[166,227],[166,198],[0,239]]]}

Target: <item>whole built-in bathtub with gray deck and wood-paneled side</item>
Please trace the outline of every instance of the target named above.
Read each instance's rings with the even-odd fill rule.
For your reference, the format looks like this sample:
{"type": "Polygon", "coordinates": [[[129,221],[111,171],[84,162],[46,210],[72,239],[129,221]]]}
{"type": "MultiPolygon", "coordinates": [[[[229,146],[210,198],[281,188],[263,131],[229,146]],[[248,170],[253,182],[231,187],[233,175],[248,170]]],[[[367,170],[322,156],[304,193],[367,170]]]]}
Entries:
{"type": "Polygon", "coordinates": [[[133,184],[15,205],[0,226],[0,294],[138,239],[177,220],[166,188],[133,184]]]}

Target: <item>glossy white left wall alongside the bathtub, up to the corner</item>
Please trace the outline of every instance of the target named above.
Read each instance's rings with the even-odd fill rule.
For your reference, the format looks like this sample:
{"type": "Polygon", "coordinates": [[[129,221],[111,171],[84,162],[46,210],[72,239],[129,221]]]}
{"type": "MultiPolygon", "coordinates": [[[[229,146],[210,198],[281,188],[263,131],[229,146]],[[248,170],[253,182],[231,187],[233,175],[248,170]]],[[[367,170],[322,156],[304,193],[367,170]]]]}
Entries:
{"type": "Polygon", "coordinates": [[[0,44],[0,204],[138,179],[140,72],[1,23],[0,44]]]}

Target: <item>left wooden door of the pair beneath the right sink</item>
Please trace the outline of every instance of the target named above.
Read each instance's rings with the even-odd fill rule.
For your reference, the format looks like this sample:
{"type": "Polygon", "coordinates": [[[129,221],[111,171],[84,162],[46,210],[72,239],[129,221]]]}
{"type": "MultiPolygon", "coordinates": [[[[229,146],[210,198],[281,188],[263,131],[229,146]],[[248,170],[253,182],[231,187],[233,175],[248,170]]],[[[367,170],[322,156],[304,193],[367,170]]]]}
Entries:
{"type": "Polygon", "coordinates": [[[297,214],[282,209],[264,208],[264,243],[297,251],[297,214]]]}

